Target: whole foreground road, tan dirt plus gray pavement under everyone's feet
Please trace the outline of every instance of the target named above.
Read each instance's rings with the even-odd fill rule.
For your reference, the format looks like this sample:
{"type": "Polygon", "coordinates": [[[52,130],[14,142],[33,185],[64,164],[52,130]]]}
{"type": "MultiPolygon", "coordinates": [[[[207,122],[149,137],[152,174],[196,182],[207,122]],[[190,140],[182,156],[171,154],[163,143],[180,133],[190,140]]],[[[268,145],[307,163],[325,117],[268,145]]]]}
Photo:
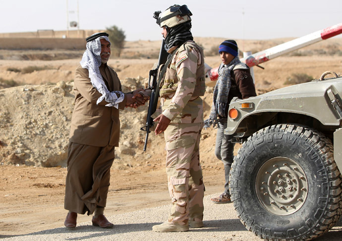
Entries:
{"type": "MultiPolygon", "coordinates": [[[[220,164],[220,163],[218,163],[220,164]]],[[[245,229],[233,204],[214,204],[213,193],[222,191],[220,165],[204,168],[205,227],[189,232],[155,233],[151,227],[165,221],[170,199],[163,168],[150,171],[112,169],[106,214],[114,228],[91,226],[91,216],[79,215],[75,230],[63,227],[65,168],[1,166],[0,238],[6,241],[46,240],[205,240],[261,241],[245,229]],[[153,177],[153,178],[151,178],[153,177]]],[[[341,241],[342,220],[315,241],[341,241]]]]}

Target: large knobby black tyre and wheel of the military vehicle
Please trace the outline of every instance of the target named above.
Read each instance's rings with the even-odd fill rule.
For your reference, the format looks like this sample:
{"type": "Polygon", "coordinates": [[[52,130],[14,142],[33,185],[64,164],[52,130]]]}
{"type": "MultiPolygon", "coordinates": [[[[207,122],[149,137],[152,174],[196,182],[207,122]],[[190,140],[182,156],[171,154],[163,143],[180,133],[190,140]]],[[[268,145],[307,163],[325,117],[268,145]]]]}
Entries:
{"type": "Polygon", "coordinates": [[[303,241],[340,218],[342,181],[330,139],[300,125],[254,133],[234,158],[229,190],[249,231],[265,240],[303,241]]]}

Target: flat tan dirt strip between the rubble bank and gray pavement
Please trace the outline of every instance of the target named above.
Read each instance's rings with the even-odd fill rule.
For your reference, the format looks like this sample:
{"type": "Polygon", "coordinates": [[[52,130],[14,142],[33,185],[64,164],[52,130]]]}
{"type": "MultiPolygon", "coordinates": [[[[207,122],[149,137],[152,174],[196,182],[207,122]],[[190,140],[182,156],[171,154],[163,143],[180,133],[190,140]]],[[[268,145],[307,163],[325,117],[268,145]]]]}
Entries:
{"type": "MultiPolygon", "coordinates": [[[[206,194],[222,191],[223,173],[215,178],[219,166],[204,170],[206,194]]],[[[107,215],[170,203],[165,170],[142,169],[112,168],[107,215]]],[[[1,166],[0,235],[29,234],[62,226],[66,215],[63,208],[65,176],[66,168],[1,166]]],[[[79,215],[78,222],[90,219],[79,215]]]]}

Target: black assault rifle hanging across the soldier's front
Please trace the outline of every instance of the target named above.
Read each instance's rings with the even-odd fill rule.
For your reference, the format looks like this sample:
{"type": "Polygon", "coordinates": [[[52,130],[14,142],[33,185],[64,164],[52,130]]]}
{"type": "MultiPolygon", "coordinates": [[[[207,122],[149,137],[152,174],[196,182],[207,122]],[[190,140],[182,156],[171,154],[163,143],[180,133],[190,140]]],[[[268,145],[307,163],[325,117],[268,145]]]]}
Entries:
{"type": "Polygon", "coordinates": [[[165,40],[163,40],[162,46],[160,48],[157,67],[155,69],[150,70],[149,77],[148,77],[148,89],[152,90],[152,92],[151,92],[150,101],[148,105],[146,125],[140,128],[140,130],[146,132],[144,151],[146,150],[148,135],[151,132],[150,128],[153,127],[154,125],[154,121],[151,115],[154,112],[156,112],[157,104],[158,104],[158,97],[159,97],[159,86],[157,82],[158,69],[162,64],[166,63],[168,56],[169,56],[169,53],[165,50],[164,46],[165,46],[165,40]]]}

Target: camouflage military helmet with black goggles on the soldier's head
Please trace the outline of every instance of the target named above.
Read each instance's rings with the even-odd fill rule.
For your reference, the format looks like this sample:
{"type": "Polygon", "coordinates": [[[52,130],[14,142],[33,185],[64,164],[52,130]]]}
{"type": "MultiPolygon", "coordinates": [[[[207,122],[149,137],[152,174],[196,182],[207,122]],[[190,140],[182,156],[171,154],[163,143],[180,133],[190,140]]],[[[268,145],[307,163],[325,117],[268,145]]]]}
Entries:
{"type": "Polygon", "coordinates": [[[156,11],[153,16],[157,19],[157,24],[161,27],[168,26],[169,28],[191,21],[190,16],[192,15],[187,5],[173,5],[166,9],[161,16],[159,16],[160,13],[161,11],[156,11]]]}

